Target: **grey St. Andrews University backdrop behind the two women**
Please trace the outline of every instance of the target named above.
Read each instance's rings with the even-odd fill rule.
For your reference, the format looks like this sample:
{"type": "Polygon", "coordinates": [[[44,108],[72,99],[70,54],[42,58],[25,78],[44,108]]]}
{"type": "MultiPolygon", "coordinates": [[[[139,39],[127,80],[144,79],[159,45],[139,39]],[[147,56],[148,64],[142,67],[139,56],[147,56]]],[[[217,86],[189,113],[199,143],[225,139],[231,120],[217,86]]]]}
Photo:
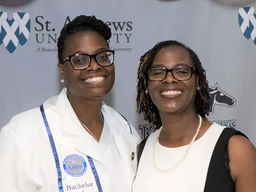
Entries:
{"type": "Polygon", "coordinates": [[[209,119],[244,132],[256,145],[254,8],[254,0],[1,0],[0,127],[59,94],[56,41],[65,24],[84,14],[112,30],[116,81],[105,102],[142,138],[152,126],[136,114],[139,58],[171,39],[190,46],[206,69],[209,119]]]}

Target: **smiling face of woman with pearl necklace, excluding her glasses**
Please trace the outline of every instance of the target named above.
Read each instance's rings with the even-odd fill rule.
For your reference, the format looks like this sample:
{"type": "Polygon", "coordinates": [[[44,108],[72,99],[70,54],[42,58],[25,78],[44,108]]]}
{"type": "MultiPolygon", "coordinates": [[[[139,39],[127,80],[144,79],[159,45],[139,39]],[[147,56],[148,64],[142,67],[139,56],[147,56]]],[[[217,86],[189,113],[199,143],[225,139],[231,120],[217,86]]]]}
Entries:
{"type": "MultiPolygon", "coordinates": [[[[181,46],[167,46],[158,51],[151,68],[171,69],[179,66],[194,67],[189,52],[181,46]]],[[[194,73],[189,80],[176,80],[171,72],[162,81],[148,80],[148,93],[160,114],[195,111],[196,88],[197,79],[194,73]]]]}

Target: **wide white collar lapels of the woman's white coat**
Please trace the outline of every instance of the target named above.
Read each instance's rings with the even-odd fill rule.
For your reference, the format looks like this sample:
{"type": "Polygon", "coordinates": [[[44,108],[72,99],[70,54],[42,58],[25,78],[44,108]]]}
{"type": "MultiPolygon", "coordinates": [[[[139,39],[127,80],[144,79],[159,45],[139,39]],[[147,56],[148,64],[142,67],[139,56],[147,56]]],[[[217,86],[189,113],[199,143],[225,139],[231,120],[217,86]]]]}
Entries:
{"type": "MultiPolygon", "coordinates": [[[[82,152],[98,162],[102,163],[100,158],[100,150],[96,150],[97,142],[84,130],[80,124],[67,96],[66,88],[62,90],[56,102],[56,108],[60,119],[60,131],[62,137],[74,145],[75,150],[82,152]],[[86,133],[85,133],[86,132],[86,133]]],[[[136,144],[138,138],[127,131],[128,122],[114,109],[102,102],[102,114],[104,120],[107,121],[110,133],[114,137],[114,141],[120,153],[120,156],[127,162],[131,161],[132,152],[136,153],[136,144]]]]}

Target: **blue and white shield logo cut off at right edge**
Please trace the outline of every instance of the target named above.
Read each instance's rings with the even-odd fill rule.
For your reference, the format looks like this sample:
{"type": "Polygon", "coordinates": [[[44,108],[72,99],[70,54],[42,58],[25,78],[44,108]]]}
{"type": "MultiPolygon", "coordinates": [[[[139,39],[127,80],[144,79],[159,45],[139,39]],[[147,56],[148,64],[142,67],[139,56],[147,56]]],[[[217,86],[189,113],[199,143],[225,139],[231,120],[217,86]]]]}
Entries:
{"type": "Polygon", "coordinates": [[[252,41],[256,45],[256,14],[254,7],[239,8],[238,22],[246,39],[252,38],[252,41]]]}

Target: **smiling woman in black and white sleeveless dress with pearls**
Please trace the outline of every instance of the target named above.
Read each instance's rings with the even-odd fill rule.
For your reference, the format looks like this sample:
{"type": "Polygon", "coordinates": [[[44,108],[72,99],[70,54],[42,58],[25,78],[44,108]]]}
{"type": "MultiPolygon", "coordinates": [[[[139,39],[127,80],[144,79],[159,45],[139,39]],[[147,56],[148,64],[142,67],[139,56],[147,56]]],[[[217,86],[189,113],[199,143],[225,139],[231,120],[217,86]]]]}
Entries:
{"type": "Polygon", "coordinates": [[[133,192],[256,191],[256,149],[244,134],[207,120],[205,70],[176,41],[140,59],[138,111],[156,130],[138,150],[133,192]]]}

